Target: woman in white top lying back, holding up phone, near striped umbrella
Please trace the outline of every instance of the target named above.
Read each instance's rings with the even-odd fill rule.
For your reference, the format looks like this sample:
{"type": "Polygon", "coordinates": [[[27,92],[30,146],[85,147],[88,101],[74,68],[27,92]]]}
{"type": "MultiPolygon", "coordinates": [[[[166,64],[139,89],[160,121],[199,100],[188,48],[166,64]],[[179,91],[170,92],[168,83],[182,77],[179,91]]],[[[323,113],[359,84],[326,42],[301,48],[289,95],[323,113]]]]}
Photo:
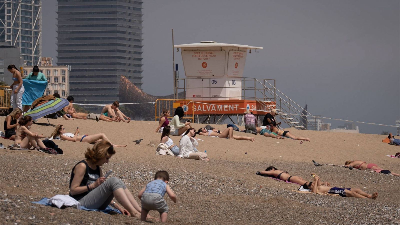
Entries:
{"type": "MultiPolygon", "coordinates": [[[[106,135],[104,135],[104,133],[99,133],[96,135],[78,135],[80,132],[80,130],[78,128],[76,128],[75,134],[73,133],[65,133],[65,128],[63,125],[59,124],[56,126],[56,128],[54,129],[53,133],[51,134],[51,137],[53,139],[56,139],[57,137],[59,137],[61,140],[63,141],[80,141],[80,142],[86,142],[86,143],[96,143],[99,141],[108,141],[110,142],[110,140],[108,140],[108,137],[106,137],[106,135]]],[[[111,142],[110,142],[111,143],[111,142]]],[[[114,145],[112,144],[114,147],[126,147],[126,145],[114,145]]]]}

